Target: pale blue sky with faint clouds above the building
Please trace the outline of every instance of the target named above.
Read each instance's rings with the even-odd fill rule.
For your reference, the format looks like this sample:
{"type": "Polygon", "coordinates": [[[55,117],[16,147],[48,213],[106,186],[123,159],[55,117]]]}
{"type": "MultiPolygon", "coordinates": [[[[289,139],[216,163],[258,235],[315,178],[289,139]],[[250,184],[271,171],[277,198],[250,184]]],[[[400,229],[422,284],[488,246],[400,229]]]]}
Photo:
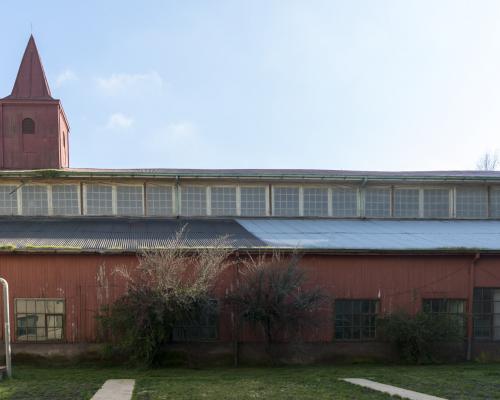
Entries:
{"type": "Polygon", "coordinates": [[[31,31],[70,166],[475,169],[500,148],[500,2],[5,2],[0,97],[31,31]]]}

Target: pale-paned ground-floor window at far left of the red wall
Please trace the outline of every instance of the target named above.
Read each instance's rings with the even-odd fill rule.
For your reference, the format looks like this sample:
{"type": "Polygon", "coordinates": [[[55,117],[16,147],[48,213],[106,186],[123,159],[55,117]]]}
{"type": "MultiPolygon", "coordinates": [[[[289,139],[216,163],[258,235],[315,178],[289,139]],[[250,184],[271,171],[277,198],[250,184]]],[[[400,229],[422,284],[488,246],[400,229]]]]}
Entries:
{"type": "Polygon", "coordinates": [[[63,299],[15,299],[18,342],[64,339],[63,299]]]}

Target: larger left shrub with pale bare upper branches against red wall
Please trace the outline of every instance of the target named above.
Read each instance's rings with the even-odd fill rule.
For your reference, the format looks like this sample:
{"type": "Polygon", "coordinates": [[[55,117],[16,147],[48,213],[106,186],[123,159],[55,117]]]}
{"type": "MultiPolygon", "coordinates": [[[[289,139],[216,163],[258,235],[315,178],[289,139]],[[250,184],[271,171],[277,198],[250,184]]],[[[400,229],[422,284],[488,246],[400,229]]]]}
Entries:
{"type": "Polygon", "coordinates": [[[110,351],[146,365],[159,362],[176,322],[213,307],[213,290],[230,255],[227,238],[193,249],[182,229],[167,247],[139,255],[136,268],[116,268],[128,290],[101,315],[110,351]]]}

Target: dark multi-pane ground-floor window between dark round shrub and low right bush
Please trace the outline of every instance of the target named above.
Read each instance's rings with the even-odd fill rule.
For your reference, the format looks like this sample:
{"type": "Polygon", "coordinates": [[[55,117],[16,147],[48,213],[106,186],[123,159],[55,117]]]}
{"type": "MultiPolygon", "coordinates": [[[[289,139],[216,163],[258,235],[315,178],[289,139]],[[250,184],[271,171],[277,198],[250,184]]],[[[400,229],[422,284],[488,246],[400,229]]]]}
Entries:
{"type": "Polygon", "coordinates": [[[335,300],[335,339],[375,339],[378,300],[335,300]]]}

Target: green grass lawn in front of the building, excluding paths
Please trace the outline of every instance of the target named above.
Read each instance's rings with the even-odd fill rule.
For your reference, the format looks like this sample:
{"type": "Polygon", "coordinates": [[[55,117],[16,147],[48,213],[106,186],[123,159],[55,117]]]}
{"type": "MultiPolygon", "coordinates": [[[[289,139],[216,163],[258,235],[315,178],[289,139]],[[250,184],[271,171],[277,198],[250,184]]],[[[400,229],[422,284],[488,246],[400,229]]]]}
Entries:
{"type": "Polygon", "coordinates": [[[500,399],[500,364],[157,369],[17,365],[0,399],[90,399],[106,379],[135,378],[135,400],[388,399],[340,382],[369,378],[448,399],[500,399]]]}

